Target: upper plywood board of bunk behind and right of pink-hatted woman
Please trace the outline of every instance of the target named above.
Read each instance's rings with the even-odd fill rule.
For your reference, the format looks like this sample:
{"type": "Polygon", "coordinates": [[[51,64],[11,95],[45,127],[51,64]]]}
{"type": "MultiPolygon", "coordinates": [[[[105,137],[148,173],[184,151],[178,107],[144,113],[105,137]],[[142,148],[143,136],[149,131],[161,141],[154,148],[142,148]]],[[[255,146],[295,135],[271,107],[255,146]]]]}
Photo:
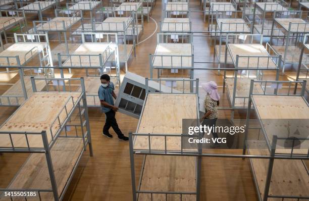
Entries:
{"type": "MultiPolygon", "coordinates": [[[[238,68],[276,68],[275,62],[271,58],[256,58],[259,56],[269,56],[265,47],[262,44],[228,44],[230,47],[231,57],[236,62],[236,55],[239,56],[254,56],[255,58],[239,58],[238,68]]],[[[233,62],[234,62],[233,61],[233,62]]],[[[236,65],[234,63],[234,65],[236,65]]]]}

